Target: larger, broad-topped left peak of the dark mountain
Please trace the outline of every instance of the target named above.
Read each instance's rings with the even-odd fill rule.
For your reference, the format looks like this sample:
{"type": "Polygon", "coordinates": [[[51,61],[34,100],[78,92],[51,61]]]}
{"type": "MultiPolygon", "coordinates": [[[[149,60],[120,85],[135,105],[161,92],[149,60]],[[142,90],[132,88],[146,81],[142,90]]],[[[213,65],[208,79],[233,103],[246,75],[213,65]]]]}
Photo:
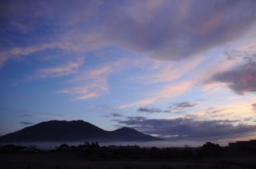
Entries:
{"type": "Polygon", "coordinates": [[[48,121],[0,137],[0,142],[80,141],[108,131],[84,121],[48,121]]]}

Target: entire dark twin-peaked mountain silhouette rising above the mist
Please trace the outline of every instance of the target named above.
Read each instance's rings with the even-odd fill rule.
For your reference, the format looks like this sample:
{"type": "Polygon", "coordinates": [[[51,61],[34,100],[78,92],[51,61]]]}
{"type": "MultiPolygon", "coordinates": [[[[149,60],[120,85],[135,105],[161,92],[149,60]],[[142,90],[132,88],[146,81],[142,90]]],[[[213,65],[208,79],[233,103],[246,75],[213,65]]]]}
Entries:
{"type": "Polygon", "coordinates": [[[145,142],[163,140],[145,135],[136,129],[106,131],[85,121],[40,122],[19,131],[0,136],[0,142],[145,142]]]}

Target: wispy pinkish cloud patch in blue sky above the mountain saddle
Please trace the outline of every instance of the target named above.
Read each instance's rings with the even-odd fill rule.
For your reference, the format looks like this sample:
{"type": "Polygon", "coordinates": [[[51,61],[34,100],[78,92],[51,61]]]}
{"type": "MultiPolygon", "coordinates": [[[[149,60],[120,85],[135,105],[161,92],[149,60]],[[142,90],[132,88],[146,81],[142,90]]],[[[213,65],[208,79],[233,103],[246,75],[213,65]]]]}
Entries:
{"type": "Polygon", "coordinates": [[[108,62],[108,64],[95,66],[90,70],[81,71],[67,82],[67,84],[75,84],[74,87],[61,89],[55,93],[70,94],[73,96],[72,101],[102,96],[102,94],[108,92],[108,77],[116,73],[115,70],[117,69],[121,71],[125,64],[127,64],[127,59],[122,58],[108,62]]]}

